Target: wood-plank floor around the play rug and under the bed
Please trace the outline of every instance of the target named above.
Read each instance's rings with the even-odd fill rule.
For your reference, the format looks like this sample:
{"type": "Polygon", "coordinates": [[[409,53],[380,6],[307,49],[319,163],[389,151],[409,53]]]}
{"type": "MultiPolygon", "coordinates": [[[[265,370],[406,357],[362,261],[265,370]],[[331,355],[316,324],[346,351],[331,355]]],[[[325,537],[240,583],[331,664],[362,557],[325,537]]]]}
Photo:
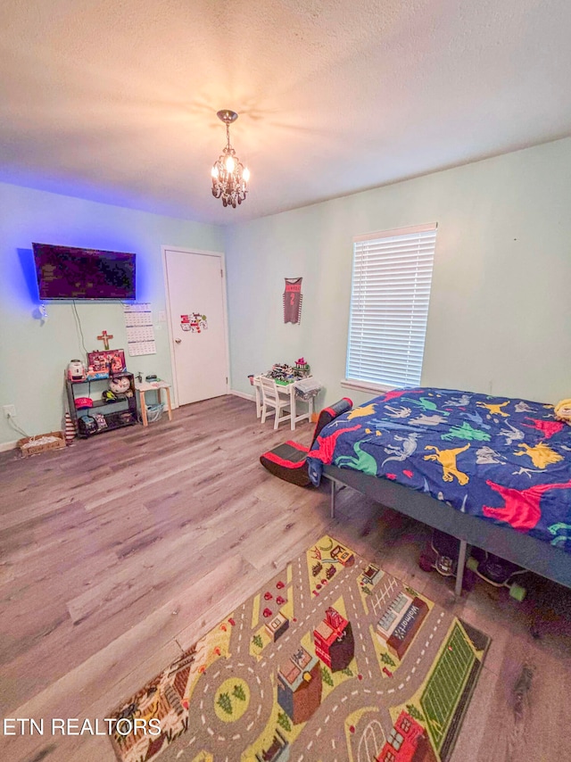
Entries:
{"type": "MultiPolygon", "coordinates": [[[[349,490],[270,476],[290,438],[220,397],[29,460],[0,456],[0,716],[107,716],[329,532],[492,636],[454,762],[571,758],[571,592],[534,578],[523,604],[418,569],[426,527],[349,490]]],[[[309,443],[310,426],[295,438],[309,443]]],[[[106,737],[0,737],[10,762],[112,762],[106,737]]],[[[327,762],[327,760],[323,760],[327,762]]]]}

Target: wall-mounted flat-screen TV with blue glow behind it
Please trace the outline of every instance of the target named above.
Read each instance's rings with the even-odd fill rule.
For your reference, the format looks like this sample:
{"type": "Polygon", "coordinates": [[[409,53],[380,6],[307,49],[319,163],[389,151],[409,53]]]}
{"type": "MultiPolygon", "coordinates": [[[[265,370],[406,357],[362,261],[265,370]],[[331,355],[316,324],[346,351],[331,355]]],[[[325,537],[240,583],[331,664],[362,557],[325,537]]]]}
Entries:
{"type": "Polygon", "coordinates": [[[135,254],[32,244],[40,299],[135,299],[135,254]]]}

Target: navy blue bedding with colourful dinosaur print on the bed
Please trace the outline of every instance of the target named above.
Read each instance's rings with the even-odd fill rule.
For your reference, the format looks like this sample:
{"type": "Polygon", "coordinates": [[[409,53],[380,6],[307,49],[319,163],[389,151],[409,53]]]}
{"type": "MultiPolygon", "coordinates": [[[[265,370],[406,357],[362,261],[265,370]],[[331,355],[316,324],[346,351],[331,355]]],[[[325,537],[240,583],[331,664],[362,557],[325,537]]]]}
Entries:
{"type": "Polygon", "coordinates": [[[387,392],[335,418],[309,458],[430,493],[571,553],[571,427],[553,406],[418,388],[387,392]]]}

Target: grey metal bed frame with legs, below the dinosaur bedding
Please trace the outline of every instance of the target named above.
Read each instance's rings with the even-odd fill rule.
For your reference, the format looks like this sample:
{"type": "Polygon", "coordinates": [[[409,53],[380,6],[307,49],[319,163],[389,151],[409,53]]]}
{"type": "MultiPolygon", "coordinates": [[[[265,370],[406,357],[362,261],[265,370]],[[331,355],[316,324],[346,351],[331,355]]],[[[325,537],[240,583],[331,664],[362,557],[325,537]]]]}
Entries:
{"type": "Polygon", "coordinates": [[[389,479],[335,466],[325,466],[323,476],[329,480],[331,486],[331,518],[335,518],[335,497],[339,487],[351,487],[386,508],[457,537],[460,542],[455,586],[457,596],[462,592],[468,545],[475,545],[571,588],[571,554],[555,548],[550,543],[517,532],[509,526],[501,526],[462,513],[427,493],[411,490],[389,479]]]}

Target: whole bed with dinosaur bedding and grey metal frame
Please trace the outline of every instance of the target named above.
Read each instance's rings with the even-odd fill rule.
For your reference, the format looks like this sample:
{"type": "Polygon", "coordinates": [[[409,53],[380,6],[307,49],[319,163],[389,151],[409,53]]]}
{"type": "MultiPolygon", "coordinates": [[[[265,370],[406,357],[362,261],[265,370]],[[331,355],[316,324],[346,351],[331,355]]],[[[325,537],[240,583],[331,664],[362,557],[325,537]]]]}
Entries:
{"type": "Polygon", "coordinates": [[[571,427],[553,406],[422,387],[335,418],[309,452],[310,478],[340,486],[571,587],[571,427]]]}

